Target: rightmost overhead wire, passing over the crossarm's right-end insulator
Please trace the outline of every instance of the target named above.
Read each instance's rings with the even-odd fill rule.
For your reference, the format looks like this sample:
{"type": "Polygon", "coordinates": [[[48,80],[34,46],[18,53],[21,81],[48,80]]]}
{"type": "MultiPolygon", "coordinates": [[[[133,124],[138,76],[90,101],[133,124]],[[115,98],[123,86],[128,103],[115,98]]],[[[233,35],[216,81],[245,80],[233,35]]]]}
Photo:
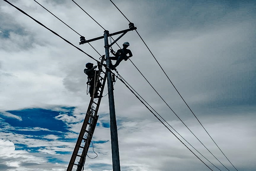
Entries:
{"type": "MultiPolygon", "coordinates": [[[[122,11],[114,4],[114,2],[112,0],[109,0],[110,2],[112,2],[112,4],[118,9],[118,11],[126,18],[126,20],[128,22],[130,22],[130,20],[122,13],[122,11]]],[[[175,87],[175,85],[171,82],[171,79],[168,77],[168,75],[166,74],[166,72],[163,70],[163,67],[159,64],[159,62],[157,61],[157,59],[155,58],[155,55],[151,52],[151,50],[149,49],[149,47],[147,46],[146,42],[143,40],[143,38],[140,36],[140,34],[138,33],[137,30],[135,30],[136,33],[138,34],[138,36],[141,38],[142,42],[145,44],[145,46],[147,47],[147,49],[150,51],[151,55],[154,57],[155,61],[158,63],[158,65],[160,66],[160,68],[162,69],[163,73],[166,75],[166,77],[168,78],[168,80],[170,81],[170,83],[173,85],[173,87],[175,88],[175,90],[177,91],[177,93],[180,95],[181,99],[184,101],[184,103],[187,105],[187,107],[189,108],[189,110],[192,112],[192,114],[194,115],[194,117],[196,117],[195,113],[192,111],[192,109],[189,107],[189,105],[187,104],[187,102],[184,100],[184,98],[181,96],[180,92],[178,91],[178,89],[175,87]]],[[[220,147],[217,145],[217,143],[213,140],[213,138],[210,136],[210,134],[208,133],[208,131],[204,128],[204,126],[202,125],[202,123],[199,121],[199,119],[196,117],[196,120],[200,123],[200,125],[203,127],[203,129],[205,130],[205,132],[209,135],[209,137],[212,139],[212,141],[214,142],[214,144],[218,147],[218,149],[221,151],[221,153],[225,156],[225,158],[229,161],[228,157],[224,154],[224,152],[220,149],[220,147]]],[[[237,168],[231,163],[231,161],[229,161],[229,163],[237,170],[237,168]]],[[[237,170],[238,171],[238,170],[237,170]]]]}

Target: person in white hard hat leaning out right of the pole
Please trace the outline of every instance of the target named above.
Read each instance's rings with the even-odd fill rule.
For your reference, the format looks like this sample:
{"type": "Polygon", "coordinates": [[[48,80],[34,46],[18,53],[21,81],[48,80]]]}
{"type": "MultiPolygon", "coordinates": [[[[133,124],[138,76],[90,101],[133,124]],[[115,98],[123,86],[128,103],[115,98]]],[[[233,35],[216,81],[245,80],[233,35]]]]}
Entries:
{"type": "Polygon", "coordinates": [[[132,52],[127,49],[127,47],[130,46],[129,42],[124,42],[123,43],[123,49],[119,49],[117,50],[117,52],[114,52],[113,49],[111,49],[111,53],[114,55],[112,57],[110,57],[111,60],[116,60],[117,62],[115,63],[115,65],[111,65],[110,68],[111,70],[114,70],[122,60],[127,61],[128,58],[132,57],[132,52]],[[127,54],[129,54],[129,56],[127,56],[127,54]]]}

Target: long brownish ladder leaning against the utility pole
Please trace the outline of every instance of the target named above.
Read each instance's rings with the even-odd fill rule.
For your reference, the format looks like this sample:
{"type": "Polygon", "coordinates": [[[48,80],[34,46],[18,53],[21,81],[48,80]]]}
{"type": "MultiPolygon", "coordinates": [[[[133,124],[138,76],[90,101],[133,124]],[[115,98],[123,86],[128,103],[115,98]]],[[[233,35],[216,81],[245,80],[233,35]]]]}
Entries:
{"type": "MultiPolygon", "coordinates": [[[[98,74],[97,74],[97,79],[95,79],[95,84],[94,84],[94,91],[98,88],[98,84],[102,84],[102,86],[98,89],[99,96],[102,97],[104,85],[106,82],[107,75],[105,72],[102,71],[102,64],[104,62],[104,56],[102,56],[101,63],[98,64],[98,74]],[[102,77],[101,74],[104,76],[102,77]]],[[[94,93],[93,93],[94,94],[94,93]]],[[[72,171],[74,169],[74,165],[77,166],[76,171],[81,171],[85,165],[85,158],[88,153],[89,146],[92,141],[94,129],[97,124],[98,120],[98,109],[101,103],[101,98],[94,99],[93,96],[91,97],[86,115],[85,115],[85,120],[83,122],[81,131],[79,133],[79,137],[76,142],[76,146],[74,148],[74,151],[72,153],[70,162],[68,164],[67,171],[72,171]],[[96,107],[95,107],[96,105],[96,107]]]]}

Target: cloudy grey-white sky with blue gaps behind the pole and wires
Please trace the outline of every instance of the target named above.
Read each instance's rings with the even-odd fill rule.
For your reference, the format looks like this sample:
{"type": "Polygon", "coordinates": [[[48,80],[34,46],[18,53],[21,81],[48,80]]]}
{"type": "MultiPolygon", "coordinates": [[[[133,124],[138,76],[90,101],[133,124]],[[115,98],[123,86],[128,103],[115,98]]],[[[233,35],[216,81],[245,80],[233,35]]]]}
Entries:
{"type": "MultiPolygon", "coordinates": [[[[79,34],[91,39],[102,36],[104,30],[72,1],[38,0],[79,34],[33,0],[10,2],[94,58],[100,57],[88,44],[79,45],[79,34]]],[[[129,28],[129,22],[110,1],[76,2],[110,33],[129,28]]],[[[137,27],[236,169],[256,170],[255,2],[113,2],[137,27]]],[[[0,2],[0,13],[0,170],[64,171],[90,101],[83,70],[87,62],[96,62],[4,1],[0,2]]],[[[118,44],[127,41],[133,53],[131,61],[228,169],[189,132],[129,60],[117,67],[119,74],[204,157],[222,171],[235,171],[135,31],[128,32],[118,44]]],[[[91,44],[105,54],[103,39],[91,44]]],[[[118,50],[116,45],[112,48],[118,50]]],[[[114,98],[122,171],[210,170],[120,80],[114,85],[114,98]]],[[[91,145],[88,156],[96,158],[86,158],[85,171],[112,170],[108,96],[102,98],[98,115],[92,140],[98,157],[91,145]]],[[[218,170],[188,147],[211,169],[218,170]]]]}

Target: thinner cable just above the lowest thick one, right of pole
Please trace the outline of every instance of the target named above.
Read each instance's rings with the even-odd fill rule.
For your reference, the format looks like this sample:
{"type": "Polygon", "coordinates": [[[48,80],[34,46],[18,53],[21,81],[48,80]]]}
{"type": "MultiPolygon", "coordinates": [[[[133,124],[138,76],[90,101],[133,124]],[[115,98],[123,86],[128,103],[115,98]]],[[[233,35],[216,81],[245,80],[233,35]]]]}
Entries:
{"type": "MultiPolygon", "coordinates": [[[[120,75],[117,74],[124,82],[126,82],[126,80],[120,75]]],[[[128,83],[126,82],[127,85],[130,86],[130,88],[159,116],[161,117],[161,119],[163,119],[163,121],[165,121],[167,123],[167,125],[169,125],[182,139],[184,139],[184,141],[186,141],[193,149],[195,149],[197,151],[197,153],[199,153],[202,157],[204,157],[203,154],[201,154],[195,147],[193,147],[182,135],[180,135],[180,133],[178,133],[157,111],[155,111],[155,109],[148,104],[148,102],[140,96],[140,94],[128,83]]],[[[209,161],[206,157],[204,157],[204,159],[206,159],[207,161],[209,161]]],[[[221,171],[221,169],[219,169],[216,165],[214,165],[211,161],[209,161],[209,163],[211,163],[214,167],[216,167],[218,170],[221,171]]]]}

